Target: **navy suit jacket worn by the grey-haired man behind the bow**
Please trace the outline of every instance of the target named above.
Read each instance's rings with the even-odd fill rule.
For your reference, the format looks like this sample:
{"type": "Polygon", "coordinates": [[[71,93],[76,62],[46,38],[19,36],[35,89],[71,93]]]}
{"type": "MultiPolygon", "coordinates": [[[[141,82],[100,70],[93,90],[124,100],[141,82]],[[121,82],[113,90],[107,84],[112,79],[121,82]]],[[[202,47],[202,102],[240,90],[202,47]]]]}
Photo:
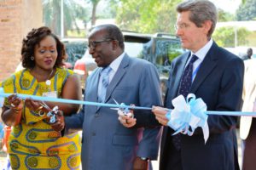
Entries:
{"type": "MultiPolygon", "coordinates": [[[[172,108],[189,53],[174,59],[171,65],[165,105],[172,108]]],[[[207,104],[207,111],[239,111],[241,105],[243,62],[236,55],[213,42],[192,83],[191,93],[207,104]]],[[[204,143],[201,128],[193,136],[181,135],[183,170],[234,170],[238,166],[236,151],[236,117],[208,116],[210,136],[204,143]]],[[[172,129],[165,127],[161,140],[160,170],[166,167],[167,147],[172,144],[172,129]]],[[[173,157],[173,156],[172,156],[173,157]]]]}

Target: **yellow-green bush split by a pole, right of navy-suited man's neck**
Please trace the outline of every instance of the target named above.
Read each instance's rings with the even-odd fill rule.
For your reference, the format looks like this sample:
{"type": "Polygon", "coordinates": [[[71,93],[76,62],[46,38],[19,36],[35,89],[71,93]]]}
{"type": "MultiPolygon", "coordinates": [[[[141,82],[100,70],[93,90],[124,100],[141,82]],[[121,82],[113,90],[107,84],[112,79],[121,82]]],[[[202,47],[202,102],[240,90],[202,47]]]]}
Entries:
{"type": "Polygon", "coordinates": [[[252,32],[244,27],[237,28],[237,30],[232,26],[221,27],[214,31],[212,37],[219,46],[235,47],[235,31],[237,31],[237,45],[247,45],[247,36],[252,32]]]}

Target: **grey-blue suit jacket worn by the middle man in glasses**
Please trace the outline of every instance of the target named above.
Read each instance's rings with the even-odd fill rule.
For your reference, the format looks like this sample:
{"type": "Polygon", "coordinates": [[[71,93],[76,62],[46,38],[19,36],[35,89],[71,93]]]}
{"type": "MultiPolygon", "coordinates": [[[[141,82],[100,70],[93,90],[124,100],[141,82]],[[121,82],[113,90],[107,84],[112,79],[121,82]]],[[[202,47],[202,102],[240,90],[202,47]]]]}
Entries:
{"type": "MultiPolygon", "coordinates": [[[[87,101],[97,101],[100,71],[98,68],[88,77],[84,94],[87,101]]],[[[114,104],[113,99],[126,105],[161,105],[160,81],[154,65],[125,54],[108,86],[105,103],[114,104]]],[[[83,127],[83,169],[128,170],[136,156],[157,159],[160,127],[156,127],[154,114],[137,110],[135,117],[137,127],[126,128],[120,124],[117,111],[84,105],[79,114],[65,118],[66,130],[83,127]]]]}

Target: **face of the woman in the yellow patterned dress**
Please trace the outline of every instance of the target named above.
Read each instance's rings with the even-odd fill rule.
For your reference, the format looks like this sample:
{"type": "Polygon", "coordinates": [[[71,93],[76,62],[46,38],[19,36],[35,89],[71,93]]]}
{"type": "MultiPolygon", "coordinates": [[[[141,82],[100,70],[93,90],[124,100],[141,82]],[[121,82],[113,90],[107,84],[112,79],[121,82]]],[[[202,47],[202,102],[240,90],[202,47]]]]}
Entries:
{"type": "Polygon", "coordinates": [[[35,67],[44,70],[51,70],[58,56],[55,38],[51,36],[44,37],[34,49],[35,67]]]}

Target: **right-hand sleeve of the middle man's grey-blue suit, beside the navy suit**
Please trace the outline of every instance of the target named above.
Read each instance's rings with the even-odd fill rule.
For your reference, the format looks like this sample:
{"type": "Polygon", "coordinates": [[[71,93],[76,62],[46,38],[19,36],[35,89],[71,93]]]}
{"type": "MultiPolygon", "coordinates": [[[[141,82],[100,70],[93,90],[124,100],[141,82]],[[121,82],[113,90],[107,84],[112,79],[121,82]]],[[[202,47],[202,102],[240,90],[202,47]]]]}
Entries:
{"type": "MultiPolygon", "coordinates": [[[[143,70],[139,87],[139,103],[142,106],[162,105],[160,81],[154,65],[143,70]]],[[[151,111],[135,112],[137,125],[143,126],[143,138],[140,140],[137,156],[156,160],[160,144],[161,127],[151,111]]]]}

